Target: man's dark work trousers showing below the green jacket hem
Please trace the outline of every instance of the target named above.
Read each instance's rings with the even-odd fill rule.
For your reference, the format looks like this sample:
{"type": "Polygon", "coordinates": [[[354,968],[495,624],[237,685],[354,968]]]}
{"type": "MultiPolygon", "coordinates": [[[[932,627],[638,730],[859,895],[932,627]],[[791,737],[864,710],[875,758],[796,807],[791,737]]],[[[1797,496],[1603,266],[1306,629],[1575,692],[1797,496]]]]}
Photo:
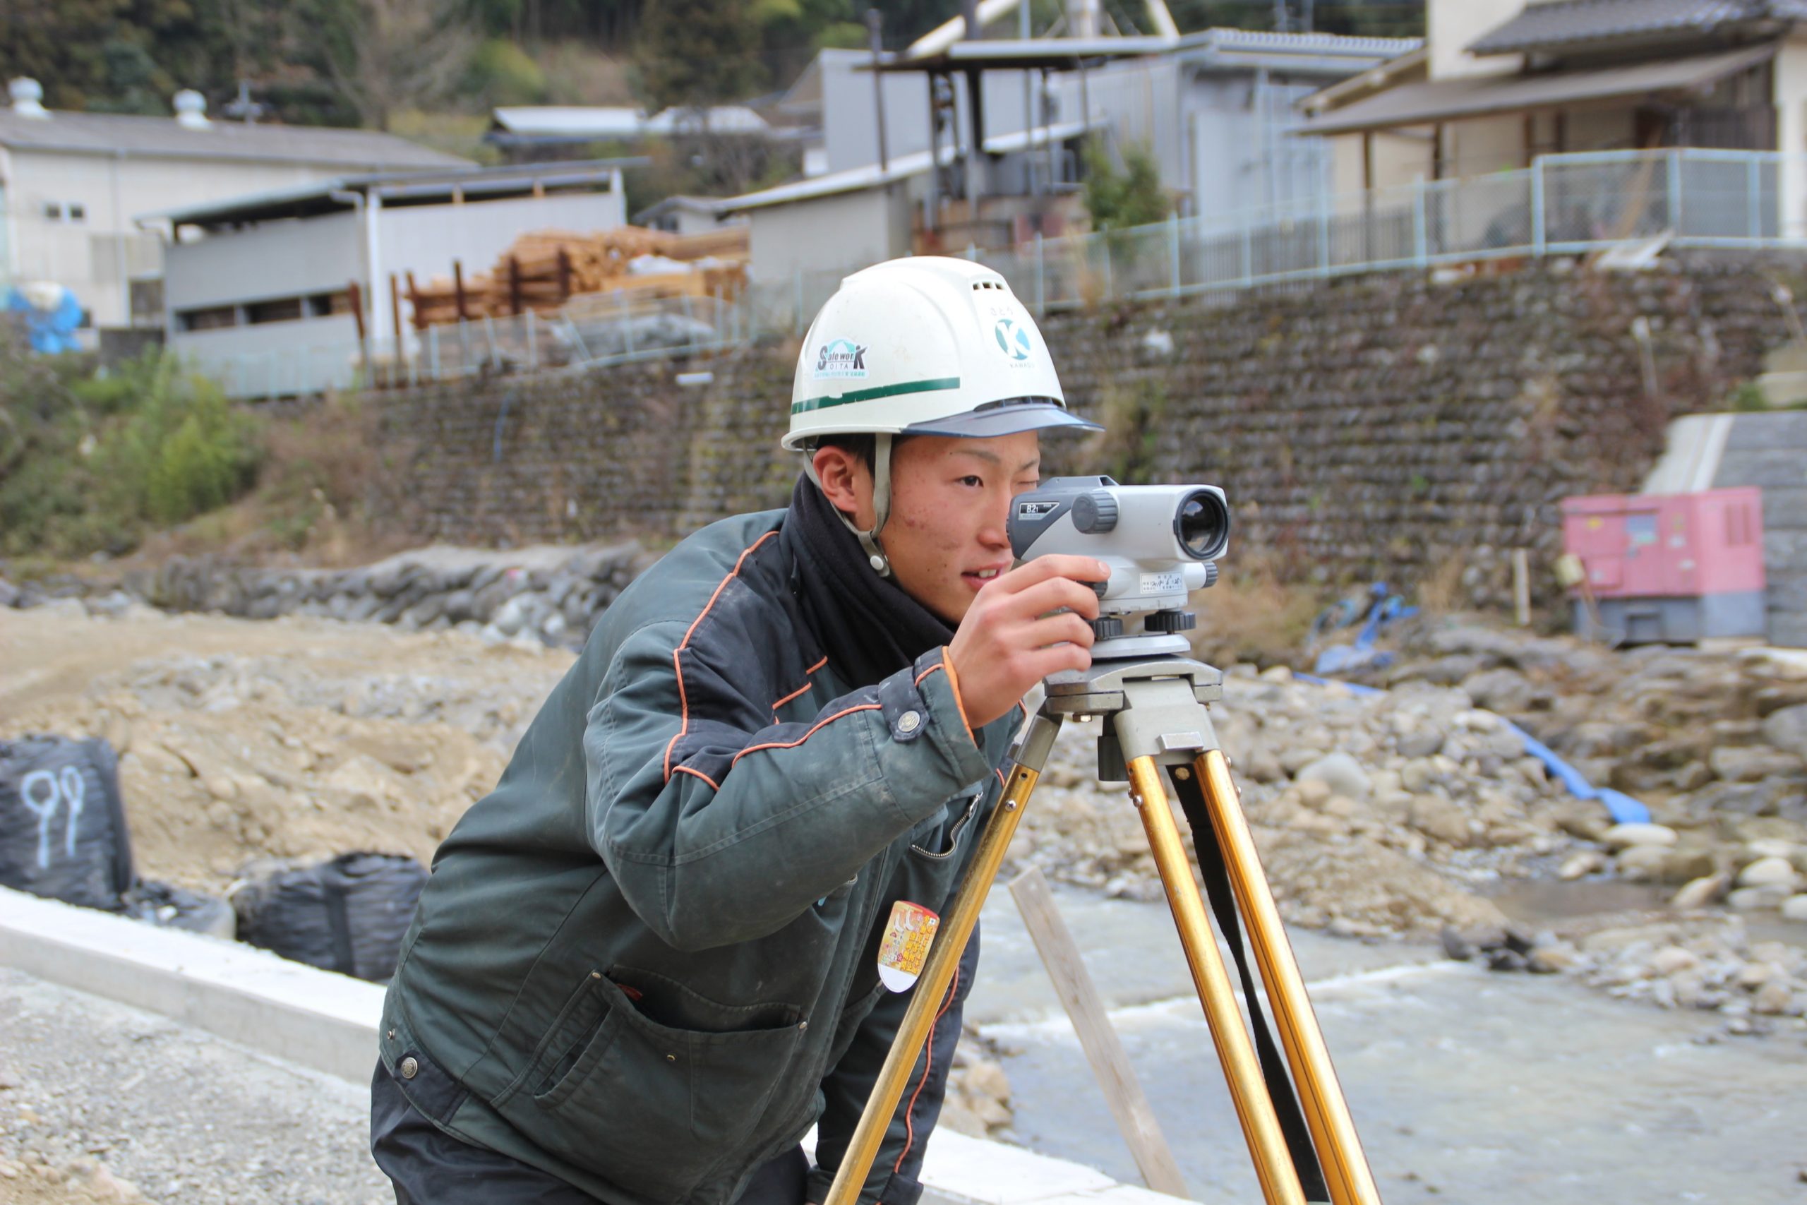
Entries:
{"type": "MultiPolygon", "coordinates": [[[[461,1142],[428,1122],[376,1062],[370,1154],[396,1187],[396,1205],[596,1205],[538,1167],[461,1142]]],[[[754,1172],[735,1205],[804,1205],[810,1160],[791,1147],[754,1172]]]]}

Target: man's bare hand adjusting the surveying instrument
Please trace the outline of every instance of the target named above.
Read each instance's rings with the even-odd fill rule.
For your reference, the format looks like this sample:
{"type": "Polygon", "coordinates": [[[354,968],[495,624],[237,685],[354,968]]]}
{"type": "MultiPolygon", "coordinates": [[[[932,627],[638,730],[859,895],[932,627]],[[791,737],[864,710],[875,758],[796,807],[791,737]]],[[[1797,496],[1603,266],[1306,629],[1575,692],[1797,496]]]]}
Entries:
{"type": "Polygon", "coordinates": [[[1048,674],[1091,665],[1099,596],[1086,582],[1106,578],[1091,556],[1037,556],[985,584],[947,645],[974,732],[1048,674]]]}

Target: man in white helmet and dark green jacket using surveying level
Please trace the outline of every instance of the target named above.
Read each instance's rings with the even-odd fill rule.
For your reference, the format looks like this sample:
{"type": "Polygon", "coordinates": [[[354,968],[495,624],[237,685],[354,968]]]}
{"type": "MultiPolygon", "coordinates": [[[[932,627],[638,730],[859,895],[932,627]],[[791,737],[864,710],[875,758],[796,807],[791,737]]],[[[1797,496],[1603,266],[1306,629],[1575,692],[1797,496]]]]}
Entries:
{"type": "MultiPolygon", "coordinates": [[[[434,858],[372,1082],[401,1205],[824,1198],[909,1003],[880,947],[952,898],[1023,694],[1090,663],[1104,567],[1010,567],[1050,426],[1097,430],[997,273],[842,282],[790,508],[623,591],[434,858]]],[[[922,1192],[976,947],[862,1200],[922,1192]]]]}

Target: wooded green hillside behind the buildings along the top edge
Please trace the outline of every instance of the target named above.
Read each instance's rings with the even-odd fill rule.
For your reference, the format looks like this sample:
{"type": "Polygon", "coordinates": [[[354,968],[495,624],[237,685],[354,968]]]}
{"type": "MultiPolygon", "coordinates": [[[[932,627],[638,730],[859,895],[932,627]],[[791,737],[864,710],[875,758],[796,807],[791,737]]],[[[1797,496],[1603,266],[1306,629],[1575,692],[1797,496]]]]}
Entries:
{"type": "MultiPolygon", "coordinates": [[[[786,87],[820,47],[866,45],[866,0],[5,0],[0,74],[52,108],[170,112],[199,89],[264,119],[419,132],[493,105],[701,105],[786,87]],[[244,101],[240,101],[244,103],[244,101]]],[[[1106,0],[1122,33],[1137,0],[1106,0]]],[[[960,0],[880,0],[896,49],[960,0]]],[[[1422,33],[1422,0],[1169,0],[1182,29],[1422,33]]],[[[1034,29],[1061,16],[1034,0],[1034,29]]],[[[1008,18],[1003,34],[1016,31],[1008,18]]]]}

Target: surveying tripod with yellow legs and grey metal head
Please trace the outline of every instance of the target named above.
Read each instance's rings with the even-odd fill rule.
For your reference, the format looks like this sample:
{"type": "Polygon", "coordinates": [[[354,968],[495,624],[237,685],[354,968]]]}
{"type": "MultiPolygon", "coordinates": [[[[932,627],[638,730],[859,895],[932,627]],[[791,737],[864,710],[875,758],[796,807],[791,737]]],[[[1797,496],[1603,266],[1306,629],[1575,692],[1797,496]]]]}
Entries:
{"type": "Polygon", "coordinates": [[[1334,1205],[1379,1205],[1381,1194],[1330,1066],[1317,1015],[1256,858],[1229,761],[1205,710],[1207,703],[1222,697],[1223,676],[1180,656],[1093,661],[1084,672],[1048,679],[1043,705],[1010,748],[1014,764],[1005,777],[1005,791],[929,950],[916,994],[824,1205],[855,1205],[858,1200],[1053,739],[1068,717],[1093,715],[1106,719],[1099,733],[1099,777],[1129,782],[1129,799],[1142,817],[1263,1200],[1267,1205],[1319,1200],[1334,1205]],[[1173,820],[1162,770],[1193,827],[1212,912],[1241,972],[1254,1041],[1243,1026],[1205,903],[1193,882],[1193,865],[1173,820]],[[1249,925],[1256,965],[1285,1048],[1285,1066],[1269,1037],[1243,957],[1238,914],[1249,925]],[[1290,1082],[1287,1066],[1292,1070],[1290,1082]]]}

